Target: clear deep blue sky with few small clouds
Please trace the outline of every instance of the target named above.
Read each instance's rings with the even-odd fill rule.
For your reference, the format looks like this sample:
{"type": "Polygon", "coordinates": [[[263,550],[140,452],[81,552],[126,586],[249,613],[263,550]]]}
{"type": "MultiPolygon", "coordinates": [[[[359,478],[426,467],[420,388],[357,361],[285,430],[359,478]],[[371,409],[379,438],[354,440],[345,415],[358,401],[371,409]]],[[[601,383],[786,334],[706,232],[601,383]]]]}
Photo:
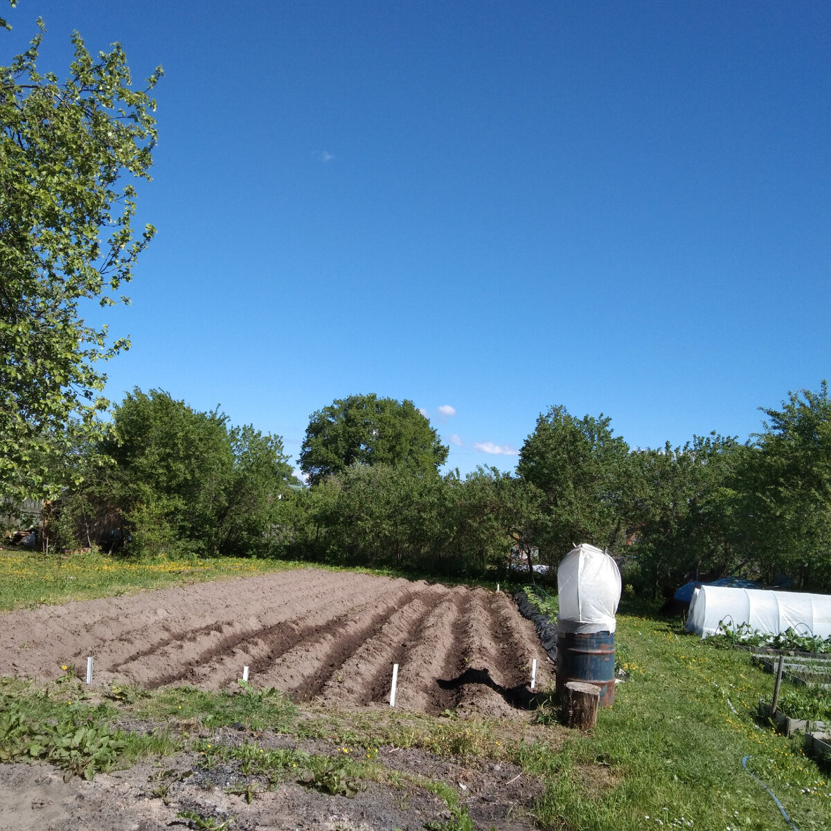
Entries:
{"type": "Polygon", "coordinates": [[[745,439],[831,375],[827,2],[20,0],[0,62],[38,15],[42,71],[72,29],[165,67],[113,399],[296,456],[333,399],[409,398],[465,473],[552,405],[745,439]]]}

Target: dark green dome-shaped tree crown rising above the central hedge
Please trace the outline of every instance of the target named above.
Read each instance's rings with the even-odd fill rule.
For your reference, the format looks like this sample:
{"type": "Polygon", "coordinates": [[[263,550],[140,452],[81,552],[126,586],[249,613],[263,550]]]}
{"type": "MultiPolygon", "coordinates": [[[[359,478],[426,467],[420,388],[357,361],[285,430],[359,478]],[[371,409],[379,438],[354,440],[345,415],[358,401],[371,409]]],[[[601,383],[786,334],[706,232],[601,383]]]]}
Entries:
{"type": "Polygon", "coordinates": [[[312,413],[300,467],[310,484],[356,464],[427,473],[445,463],[448,450],[412,401],[348,396],[312,413]]]}

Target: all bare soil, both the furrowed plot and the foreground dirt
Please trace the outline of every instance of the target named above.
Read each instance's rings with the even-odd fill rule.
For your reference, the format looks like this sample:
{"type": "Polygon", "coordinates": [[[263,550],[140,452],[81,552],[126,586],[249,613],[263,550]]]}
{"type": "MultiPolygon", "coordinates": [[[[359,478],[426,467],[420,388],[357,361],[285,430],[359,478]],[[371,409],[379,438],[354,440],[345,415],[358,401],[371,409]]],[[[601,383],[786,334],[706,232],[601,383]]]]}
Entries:
{"type": "MultiPolygon", "coordinates": [[[[554,669],[533,624],[502,593],[311,568],[0,617],[2,675],[49,681],[61,676],[61,665],[81,673],[86,656],[95,660],[94,687],[232,689],[248,666],[255,686],[274,686],[301,704],[350,709],[388,707],[397,663],[396,708],[496,716],[506,727],[528,726],[532,660],[539,686],[553,682],[554,669]]],[[[268,746],[268,735],[258,740],[268,746]]],[[[288,739],[270,741],[285,746],[288,739]]],[[[381,748],[379,760],[450,784],[476,828],[533,827],[527,811],[539,784],[512,765],[396,748],[381,748]]],[[[234,817],[231,829],[421,829],[449,819],[444,802],[421,789],[369,784],[346,799],[291,782],[250,805],[226,792],[250,779],[238,769],[200,771],[184,753],[92,782],[64,783],[47,766],[0,765],[0,831],[184,828],[188,821],[176,817],[182,810],[217,824],[234,817]],[[149,784],[159,765],[173,771],[168,804],[149,784]]]]}

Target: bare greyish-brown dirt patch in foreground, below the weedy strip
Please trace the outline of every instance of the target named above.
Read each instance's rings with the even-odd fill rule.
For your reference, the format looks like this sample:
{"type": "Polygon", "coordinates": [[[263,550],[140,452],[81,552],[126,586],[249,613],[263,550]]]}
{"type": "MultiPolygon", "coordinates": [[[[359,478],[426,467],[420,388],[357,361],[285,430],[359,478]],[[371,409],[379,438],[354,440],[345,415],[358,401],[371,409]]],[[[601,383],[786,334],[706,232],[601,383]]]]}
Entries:
{"type": "MultiPolygon", "coordinates": [[[[317,742],[263,740],[263,746],[293,746],[316,754],[337,748],[317,742]],[[313,745],[313,746],[312,746],[313,745]]],[[[514,765],[438,759],[421,750],[382,748],[379,762],[389,770],[442,779],[460,794],[476,829],[533,831],[529,816],[541,786],[514,765]]],[[[194,828],[179,813],[192,811],[230,831],[423,831],[442,823],[450,811],[442,799],[412,784],[399,789],[367,782],[354,799],[323,794],[294,781],[268,788],[263,777],[244,775],[238,764],[199,768],[199,757],[182,753],[140,761],[130,770],[98,774],[91,782],[65,782],[45,765],[0,765],[0,831],[161,831],[194,828]],[[253,784],[255,799],[229,793],[253,784]]]]}

